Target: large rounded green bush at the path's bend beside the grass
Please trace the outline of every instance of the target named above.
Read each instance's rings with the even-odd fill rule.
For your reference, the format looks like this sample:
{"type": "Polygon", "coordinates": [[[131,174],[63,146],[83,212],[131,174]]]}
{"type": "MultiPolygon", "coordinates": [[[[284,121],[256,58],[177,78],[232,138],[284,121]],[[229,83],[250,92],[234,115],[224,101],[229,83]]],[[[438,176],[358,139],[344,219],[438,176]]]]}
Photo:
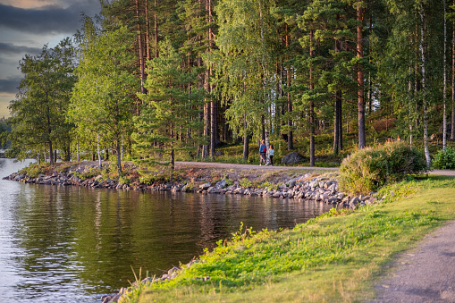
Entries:
{"type": "Polygon", "coordinates": [[[426,172],[422,152],[402,141],[359,149],[344,158],[340,166],[340,189],[368,193],[384,184],[400,181],[409,173],[426,172]]]}

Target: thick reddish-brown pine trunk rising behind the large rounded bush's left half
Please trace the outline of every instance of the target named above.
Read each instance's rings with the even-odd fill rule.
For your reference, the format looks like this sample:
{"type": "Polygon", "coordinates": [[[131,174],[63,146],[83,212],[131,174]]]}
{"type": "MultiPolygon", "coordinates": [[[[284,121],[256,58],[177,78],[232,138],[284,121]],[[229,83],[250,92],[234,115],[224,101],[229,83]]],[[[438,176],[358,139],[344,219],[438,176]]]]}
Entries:
{"type": "MultiPolygon", "coordinates": [[[[363,7],[360,0],[357,0],[357,56],[363,57],[363,7]]],[[[365,135],[365,100],[364,100],[364,74],[362,67],[357,67],[358,81],[358,148],[366,147],[365,135]]]]}

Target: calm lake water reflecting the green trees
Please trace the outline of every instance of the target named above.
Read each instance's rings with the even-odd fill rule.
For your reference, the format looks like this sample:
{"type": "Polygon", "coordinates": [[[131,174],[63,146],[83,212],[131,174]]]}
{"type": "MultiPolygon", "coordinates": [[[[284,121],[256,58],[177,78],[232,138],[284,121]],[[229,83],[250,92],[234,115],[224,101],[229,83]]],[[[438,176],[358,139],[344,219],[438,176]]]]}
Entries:
{"type": "MultiPolygon", "coordinates": [[[[29,164],[0,159],[0,178],[29,164]]],[[[144,193],[0,180],[0,299],[99,302],[187,263],[244,226],[303,223],[330,206],[277,198],[144,193]]]]}

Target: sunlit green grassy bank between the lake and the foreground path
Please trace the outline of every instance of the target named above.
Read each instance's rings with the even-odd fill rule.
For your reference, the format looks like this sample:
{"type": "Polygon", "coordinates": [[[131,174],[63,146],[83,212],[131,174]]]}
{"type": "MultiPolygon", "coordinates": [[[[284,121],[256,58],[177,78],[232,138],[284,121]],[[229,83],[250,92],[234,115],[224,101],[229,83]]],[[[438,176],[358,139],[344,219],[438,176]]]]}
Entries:
{"type": "MultiPolygon", "coordinates": [[[[382,189],[386,202],[330,215],[291,231],[240,229],[169,282],[123,302],[353,301],[374,297],[383,265],[453,218],[455,179],[432,176],[382,189]]],[[[139,277],[138,277],[139,278],[139,277]]]]}

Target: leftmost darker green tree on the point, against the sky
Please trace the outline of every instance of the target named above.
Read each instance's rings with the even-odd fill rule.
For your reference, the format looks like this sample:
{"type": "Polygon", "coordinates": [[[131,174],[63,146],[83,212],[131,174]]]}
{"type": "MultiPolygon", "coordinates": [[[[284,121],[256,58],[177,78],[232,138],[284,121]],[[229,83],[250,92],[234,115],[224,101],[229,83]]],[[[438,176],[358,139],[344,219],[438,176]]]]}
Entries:
{"type": "Polygon", "coordinates": [[[44,46],[36,56],[25,55],[19,68],[20,92],[9,106],[12,153],[23,159],[45,150],[53,154],[56,147],[68,149],[72,125],[65,114],[76,80],[72,40],[65,38],[54,48],[44,46]]]}

